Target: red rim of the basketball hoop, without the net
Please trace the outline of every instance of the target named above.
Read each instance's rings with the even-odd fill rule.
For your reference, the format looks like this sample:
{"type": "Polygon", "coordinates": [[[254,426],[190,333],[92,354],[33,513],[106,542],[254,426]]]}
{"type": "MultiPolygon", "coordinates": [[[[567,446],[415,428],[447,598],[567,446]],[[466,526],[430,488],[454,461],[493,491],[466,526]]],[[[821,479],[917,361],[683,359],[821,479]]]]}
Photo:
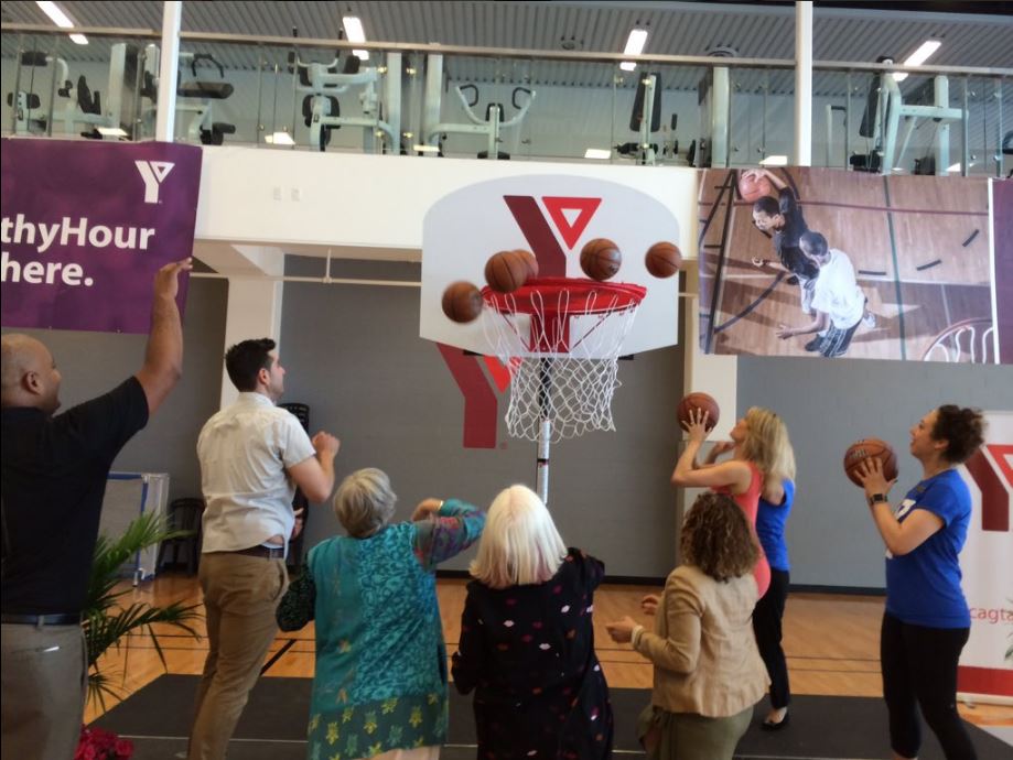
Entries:
{"type": "Polygon", "coordinates": [[[482,289],[485,303],[500,314],[540,316],[591,315],[637,306],[647,289],[626,282],[599,282],[586,278],[537,278],[511,293],[482,289]]]}

